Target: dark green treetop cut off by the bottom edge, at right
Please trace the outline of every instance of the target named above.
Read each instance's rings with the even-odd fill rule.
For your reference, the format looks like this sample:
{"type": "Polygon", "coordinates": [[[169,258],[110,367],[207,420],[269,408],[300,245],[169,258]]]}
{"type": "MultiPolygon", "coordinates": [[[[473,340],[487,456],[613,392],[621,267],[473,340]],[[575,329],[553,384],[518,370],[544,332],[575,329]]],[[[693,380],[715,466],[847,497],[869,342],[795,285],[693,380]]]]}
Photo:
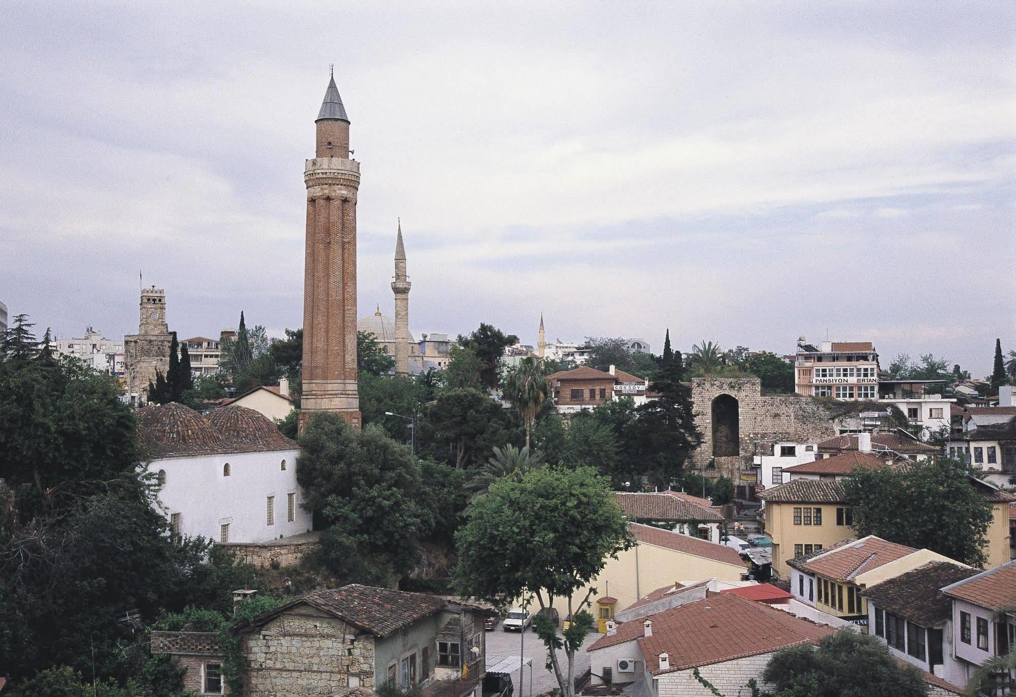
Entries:
{"type": "Polygon", "coordinates": [[[763,679],[775,685],[774,695],[924,697],[928,694],[920,671],[898,661],[874,636],[849,629],[822,637],[817,647],[799,644],[776,651],[766,666],[763,679]]]}

